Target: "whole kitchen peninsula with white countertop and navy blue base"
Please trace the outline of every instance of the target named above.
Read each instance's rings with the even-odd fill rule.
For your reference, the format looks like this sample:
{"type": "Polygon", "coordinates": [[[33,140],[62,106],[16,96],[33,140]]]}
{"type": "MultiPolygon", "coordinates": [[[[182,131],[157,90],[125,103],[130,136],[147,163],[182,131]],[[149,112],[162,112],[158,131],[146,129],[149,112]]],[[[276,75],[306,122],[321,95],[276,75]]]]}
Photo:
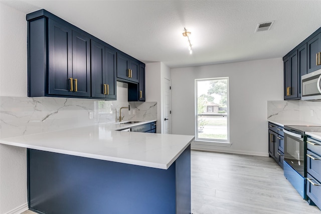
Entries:
{"type": "Polygon", "coordinates": [[[27,148],[28,203],[40,213],[190,213],[194,136],[101,124],[1,139],[27,148]]]}

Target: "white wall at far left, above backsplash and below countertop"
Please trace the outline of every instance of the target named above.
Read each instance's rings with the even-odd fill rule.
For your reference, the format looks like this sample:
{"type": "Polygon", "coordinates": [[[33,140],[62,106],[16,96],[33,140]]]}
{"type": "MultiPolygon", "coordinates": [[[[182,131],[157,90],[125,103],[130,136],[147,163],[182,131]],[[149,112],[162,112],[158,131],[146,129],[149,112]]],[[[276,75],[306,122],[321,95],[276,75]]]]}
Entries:
{"type": "MultiPolygon", "coordinates": [[[[0,4],[0,95],[26,97],[26,14],[0,4]]],[[[26,149],[0,145],[0,213],[27,205],[26,178],[26,149]]]]}

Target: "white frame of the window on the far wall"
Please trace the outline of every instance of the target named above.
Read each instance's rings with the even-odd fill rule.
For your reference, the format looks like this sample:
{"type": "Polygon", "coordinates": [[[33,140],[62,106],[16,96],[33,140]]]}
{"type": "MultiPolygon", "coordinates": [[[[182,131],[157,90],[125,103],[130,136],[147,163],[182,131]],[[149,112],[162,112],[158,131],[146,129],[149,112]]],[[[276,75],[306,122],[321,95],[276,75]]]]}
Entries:
{"type": "Polygon", "coordinates": [[[211,143],[230,143],[230,99],[229,99],[229,77],[218,77],[218,78],[205,78],[205,79],[195,79],[195,141],[199,142],[211,142],[211,143]],[[198,114],[198,83],[203,81],[217,81],[217,80],[227,80],[227,112],[213,113],[213,114],[198,114]],[[227,139],[209,139],[209,138],[199,138],[198,137],[198,117],[199,116],[223,116],[227,117],[227,139]]]}

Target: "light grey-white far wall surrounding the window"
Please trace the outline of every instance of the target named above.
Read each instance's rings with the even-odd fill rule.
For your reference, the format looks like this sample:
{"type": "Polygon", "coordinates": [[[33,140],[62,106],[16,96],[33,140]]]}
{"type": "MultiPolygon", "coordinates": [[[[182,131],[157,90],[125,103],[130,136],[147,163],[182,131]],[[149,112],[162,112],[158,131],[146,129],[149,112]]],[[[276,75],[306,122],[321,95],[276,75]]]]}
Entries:
{"type": "MultiPolygon", "coordinates": [[[[195,135],[195,79],[229,77],[231,147],[208,150],[268,155],[267,101],[283,100],[281,58],[172,69],[173,134],[195,135]]],[[[193,143],[192,147],[198,147],[193,143]]]]}

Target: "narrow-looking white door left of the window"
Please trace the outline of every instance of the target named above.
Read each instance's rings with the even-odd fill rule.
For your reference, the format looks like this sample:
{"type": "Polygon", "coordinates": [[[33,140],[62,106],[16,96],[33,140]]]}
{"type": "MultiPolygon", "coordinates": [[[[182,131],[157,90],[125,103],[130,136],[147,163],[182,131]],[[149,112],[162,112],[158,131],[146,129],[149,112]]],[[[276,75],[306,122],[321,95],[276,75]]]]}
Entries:
{"type": "Polygon", "coordinates": [[[164,78],[164,134],[172,134],[172,115],[171,115],[171,80],[164,78]]]}

